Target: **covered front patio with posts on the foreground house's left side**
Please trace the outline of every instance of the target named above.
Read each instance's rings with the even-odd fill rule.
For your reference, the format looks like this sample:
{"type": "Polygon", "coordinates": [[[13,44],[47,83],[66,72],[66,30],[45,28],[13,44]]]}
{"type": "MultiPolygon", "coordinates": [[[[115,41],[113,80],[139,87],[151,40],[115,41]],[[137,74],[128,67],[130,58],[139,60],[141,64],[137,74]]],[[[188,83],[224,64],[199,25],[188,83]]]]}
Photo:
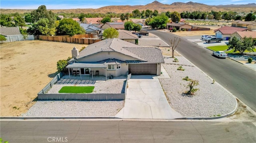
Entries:
{"type": "Polygon", "coordinates": [[[73,78],[71,78],[70,76],[70,72],[72,72],[72,76],[80,76],[81,81],[86,80],[86,77],[91,78],[88,80],[94,80],[94,78],[101,77],[102,80],[102,75],[105,78],[104,80],[107,80],[107,66],[108,65],[101,64],[98,62],[74,62],[67,65],[66,69],[68,69],[69,80],[73,80],[73,78]]]}

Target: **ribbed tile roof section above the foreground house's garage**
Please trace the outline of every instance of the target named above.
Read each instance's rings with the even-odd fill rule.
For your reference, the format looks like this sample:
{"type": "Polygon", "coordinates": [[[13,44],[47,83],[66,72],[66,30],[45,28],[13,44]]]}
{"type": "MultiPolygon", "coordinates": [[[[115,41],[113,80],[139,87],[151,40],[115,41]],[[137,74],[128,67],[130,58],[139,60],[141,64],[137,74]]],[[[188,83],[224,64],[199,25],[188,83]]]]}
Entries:
{"type": "MultiPolygon", "coordinates": [[[[124,47],[124,49],[134,53],[135,55],[143,58],[146,62],[143,63],[164,63],[164,58],[162,56],[162,51],[156,47],[124,47]]],[[[134,61],[127,61],[127,63],[134,63],[134,61]]],[[[142,62],[142,61],[138,61],[142,62]]]]}

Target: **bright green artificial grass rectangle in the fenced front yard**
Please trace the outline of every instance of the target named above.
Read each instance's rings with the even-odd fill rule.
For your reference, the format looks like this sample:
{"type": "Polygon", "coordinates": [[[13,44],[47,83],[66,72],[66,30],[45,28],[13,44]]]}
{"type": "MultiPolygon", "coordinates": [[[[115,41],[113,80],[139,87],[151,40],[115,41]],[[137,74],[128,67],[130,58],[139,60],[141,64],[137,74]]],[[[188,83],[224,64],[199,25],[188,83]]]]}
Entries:
{"type": "Polygon", "coordinates": [[[59,93],[92,93],[94,86],[63,86],[59,93]]]}

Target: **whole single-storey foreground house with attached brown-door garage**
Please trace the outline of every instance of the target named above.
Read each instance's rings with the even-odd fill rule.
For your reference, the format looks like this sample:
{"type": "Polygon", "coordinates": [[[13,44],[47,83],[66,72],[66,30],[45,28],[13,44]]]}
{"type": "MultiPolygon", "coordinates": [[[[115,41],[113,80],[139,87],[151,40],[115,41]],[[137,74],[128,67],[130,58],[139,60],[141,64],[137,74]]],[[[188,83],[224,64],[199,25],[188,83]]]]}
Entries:
{"type": "Polygon", "coordinates": [[[69,61],[68,71],[79,70],[81,75],[98,71],[106,78],[110,74],[115,77],[128,73],[160,75],[161,64],[164,63],[160,49],[141,47],[118,38],[90,44],[79,53],[74,47],[72,55],[76,60],[69,61]]]}

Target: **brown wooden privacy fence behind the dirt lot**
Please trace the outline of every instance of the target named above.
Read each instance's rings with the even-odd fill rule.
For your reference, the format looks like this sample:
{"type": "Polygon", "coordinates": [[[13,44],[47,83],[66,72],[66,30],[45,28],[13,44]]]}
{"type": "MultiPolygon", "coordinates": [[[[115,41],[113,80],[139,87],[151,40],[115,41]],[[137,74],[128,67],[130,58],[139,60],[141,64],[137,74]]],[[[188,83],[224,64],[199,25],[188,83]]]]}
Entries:
{"type": "Polygon", "coordinates": [[[76,44],[92,44],[101,39],[88,39],[88,38],[96,38],[97,34],[80,34],[69,37],[69,35],[64,36],[43,36],[39,35],[38,39],[43,41],[55,41],[55,42],[65,42],[65,43],[76,43],[76,44]]]}

